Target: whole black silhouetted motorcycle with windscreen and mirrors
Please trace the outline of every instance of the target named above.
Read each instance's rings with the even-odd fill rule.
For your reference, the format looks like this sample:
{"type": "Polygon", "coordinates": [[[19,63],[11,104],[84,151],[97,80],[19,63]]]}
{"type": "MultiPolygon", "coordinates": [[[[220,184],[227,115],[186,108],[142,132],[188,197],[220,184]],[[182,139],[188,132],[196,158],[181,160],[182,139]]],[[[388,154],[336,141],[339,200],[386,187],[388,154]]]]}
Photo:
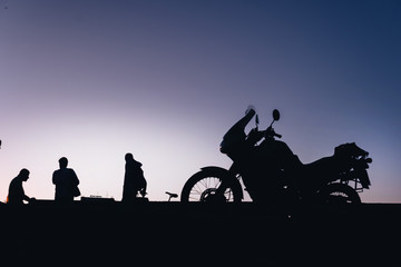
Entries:
{"type": "Polygon", "coordinates": [[[255,127],[245,134],[245,127],[256,115],[250,106],[223,137],[221,152],[233,165],[229,169],[208,166],[200,168],[184,185],[180,201],[239,202],[243,185],[254,202],[305,201],[313,204],[360,204],[358,192],[369,189],[366,169],[372,159],[354,142],[343,144],[334,155],[304,165],[273,129],[280,120],[278,110],[266,130],[255,127]]]}

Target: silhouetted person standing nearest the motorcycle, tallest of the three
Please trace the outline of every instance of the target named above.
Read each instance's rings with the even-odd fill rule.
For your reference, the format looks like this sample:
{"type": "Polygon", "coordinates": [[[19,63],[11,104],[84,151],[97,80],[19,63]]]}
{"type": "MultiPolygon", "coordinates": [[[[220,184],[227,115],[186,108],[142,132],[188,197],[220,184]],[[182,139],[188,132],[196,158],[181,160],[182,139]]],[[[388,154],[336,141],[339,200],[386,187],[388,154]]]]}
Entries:
{"type": "Polygon", "coordinates": [[[137,198],[137,194],[145,197],[147,182],[144,177],[144,171],[140,168],[141,164],[134,159],[133,154],[126,154],[125,156],[125,176],[123,188],[123,201],[131,201],[137,198]]]}

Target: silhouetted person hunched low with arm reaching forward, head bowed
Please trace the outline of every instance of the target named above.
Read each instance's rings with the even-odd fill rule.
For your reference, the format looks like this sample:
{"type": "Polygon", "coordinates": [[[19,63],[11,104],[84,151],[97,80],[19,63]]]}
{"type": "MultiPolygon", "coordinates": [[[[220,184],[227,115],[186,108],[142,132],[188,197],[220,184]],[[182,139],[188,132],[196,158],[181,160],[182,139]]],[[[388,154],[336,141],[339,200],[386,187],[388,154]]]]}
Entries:
{"type": "Polygon", "coordinates": [[[19,175],[13,178],[10,182],[9,195],[8,195],[8,204],[21,206],[23,205],[23,200],[33,201],[35,198],[30,198],[25,195],[25,190],[22,187],[22,181],[27,181],[29,179],[29,170],[21,169],[19,175]]]}

